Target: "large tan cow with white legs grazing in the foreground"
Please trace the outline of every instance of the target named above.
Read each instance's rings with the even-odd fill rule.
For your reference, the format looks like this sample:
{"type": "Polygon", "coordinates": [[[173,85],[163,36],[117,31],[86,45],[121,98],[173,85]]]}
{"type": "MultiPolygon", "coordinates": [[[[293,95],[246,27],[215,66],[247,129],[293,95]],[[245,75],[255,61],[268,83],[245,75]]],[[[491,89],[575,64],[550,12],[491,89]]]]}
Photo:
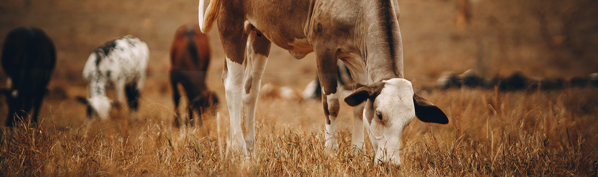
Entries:
{"type": "Polygon", "coordinates": [[[403,78],[395,1],[212,0],[204,15],[202,0],[199,10],[204,33],[218,18],[226,56],[222,80],[230,113],[231,147],[245,154],[254,149],[255,104],[271,43],[295,58],[315,52],[328,152],[337,148],[338,59],[356,82],[353,93],[344,99],[354,107],[352,144],[364,147],[365,125],[380,159],[376,162],[401,163],[401,134],[414,117],[423,122],[449,122],[440,108],[414,94],[411,82],[403,78]],[[246,117],[245,138],[241,113],[246,117]]]}

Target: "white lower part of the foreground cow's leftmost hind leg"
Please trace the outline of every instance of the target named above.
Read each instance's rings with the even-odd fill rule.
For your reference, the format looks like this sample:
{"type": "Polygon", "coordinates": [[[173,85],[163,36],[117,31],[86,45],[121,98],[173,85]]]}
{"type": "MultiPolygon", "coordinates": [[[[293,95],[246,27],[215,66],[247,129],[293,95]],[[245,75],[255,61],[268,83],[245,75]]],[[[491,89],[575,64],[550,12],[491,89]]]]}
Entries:
{"type": "Polygon", "coordinates": [[[243,103],[243,70],[242,64],[231,61],[226,58],[227,76],[224,79],[224,89],[226,91],[226,102],[230,116],[230,140],[231,147],[241,150],[243,154],[248,154],[247,146],[243,138],[241,129],[241,106],[243,103]]]}

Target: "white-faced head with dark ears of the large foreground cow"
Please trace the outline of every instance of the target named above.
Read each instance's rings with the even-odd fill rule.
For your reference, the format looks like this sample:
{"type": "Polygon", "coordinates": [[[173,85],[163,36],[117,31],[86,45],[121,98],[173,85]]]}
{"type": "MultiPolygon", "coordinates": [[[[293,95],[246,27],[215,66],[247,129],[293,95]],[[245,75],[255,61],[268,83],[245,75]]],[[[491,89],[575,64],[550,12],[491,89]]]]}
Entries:
{"type": "Polygon", "coordinates": [[[423,122],[449,123],[446,114],[428,100],[414,94],[411,82],[393,78],[353,91],[344,101],[356,106],[365,102],[365,128],[379,162],[401,164],[401,134],[414,117],[423,122]]]}

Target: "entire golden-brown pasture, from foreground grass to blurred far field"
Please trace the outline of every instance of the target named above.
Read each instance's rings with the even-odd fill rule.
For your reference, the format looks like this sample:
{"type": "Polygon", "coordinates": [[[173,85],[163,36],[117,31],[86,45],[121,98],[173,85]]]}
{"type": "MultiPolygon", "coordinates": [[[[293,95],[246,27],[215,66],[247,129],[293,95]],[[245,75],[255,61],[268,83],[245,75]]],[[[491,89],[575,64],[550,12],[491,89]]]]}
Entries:
{"type": "MultiPolygon", "coordinates": [[[[12,130],[2,127],[2,176],[598,175],[597,88],[420,91],[434,85],[444,70],[462,73],[475,67],[477,58],[484,59],[487,76],[507,76],[515,70],[528,76],[563,78],[598,72],[593,50],[597,45],[579,38],[557,44],[563,34],[555,31],[565,24],[578,26],[568,31],[575,33],[571,36],[581,33],[588,41],[596,38],[596,32],[583,30],[596,26],[595,22],[563,20],[575,13],[545,10],[547,5],[536,1],[480,0],[471,2],[471,24],[458,27],[453,19],[454,1],[399,1],[406,79],[422,97],[442,108],[450,122],[438,125],[414,119],[401,140],[403,164],[395,169],[375,165],[368,142],[365,151],[353,151],[352,111],[344,103],[337,119],[337,153],[324,151],[325,119],[319,101],[270,98],[260,98],[257,105],[253,155],[242,157],[229,151],[221,80],[224,54],[217,30],[208,34],[212,61],[206,79],[208,88],[222,98],[216,108],[219,116],[203,116],[204,127],[173,128],[176,114],[169,86],[169,49],[176,28],[197,21],[197,3],[60,0],[0,4],[2,41],[8,30],[26,24],[44,29],[57,48],[41,123],[20,123],[12,130]],[[538,20],[538,11],[547,12],[544,22],[538,20]],[[563,18],[556,18],[559,15],[563,18]],[[548,41],[557,40],[555,45],[546,44],[543,29],[552,35],[548,41]],[[150,49],[138,117],[121,124],[127,111],[114,110],[111,119],[92,122],[86,132],[86,107],[76,101],[77,96],[87,95],[81,76],[84,63],[94,47],[124,35],[140,38],[150,49]],[[574,52],[579,50],[585,52],[574,52]]],[[[576,7],[589,14],[584,17],[596,17],[596,8],[584,9],[596,7],[594,2],[550,1],[548,5],[576,7]]],[[[315,72],[313,54],[296,60],[273,46],[262,84],[302,90],[315,72]]],[[[1,75],[0,87],[5,87],[6,76],[1,75]]],[[[114,93],[109,92],[109,97],[114,98],[114,93]]],[[[7,114],[4,99],[0,97],[0,122],[7,114]]]]}

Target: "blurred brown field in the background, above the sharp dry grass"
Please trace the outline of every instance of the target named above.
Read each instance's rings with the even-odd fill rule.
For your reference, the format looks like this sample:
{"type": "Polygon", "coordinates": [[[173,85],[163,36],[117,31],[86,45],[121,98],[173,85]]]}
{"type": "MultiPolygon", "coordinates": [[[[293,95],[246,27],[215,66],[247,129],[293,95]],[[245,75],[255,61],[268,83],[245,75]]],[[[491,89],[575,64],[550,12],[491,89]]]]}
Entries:
{"type": "MultiPolygon", "coordinates": [[[[136,36],[147,42],[150,49],[142,100],[145,105],[172,112],[170,45],[177,27],[197,23],[198,3],[197,0],[4,0],[0,3],[0,41],[4,41],[9,30],[23,25],[40,27],[53,39],[57,64],[40,116],[52,117],[64,127],[83,123],[85,107],[75,97],[87,95],[81,70],[93,48],[118,36],[136,36]],[[60,123],[65,117],[74,121],[60,123]]],[[[398,3],[405,76],[416,88],[434,85],[432,82],[444,71],[462,73],[478,69],[485,77],[506,77],[520,71],[530,77],[565,79],[598,72],[598,1],[398,0],[398,3]]],[[[216,26],[208,36],[212,49],[208,87],[224,101],[220,79],[224,54],[216,26]]],[[[296,60],[273,45],[262,83],[301,91],[315,79],[315,72],[313,53],[296,60]]],[[[4,72],[0,72],[0,79],[0,87],[4,87],[4,72]]],[[[7,108],[4,101],[0,104],[0,122],[4,122],[7,108]]]]}

